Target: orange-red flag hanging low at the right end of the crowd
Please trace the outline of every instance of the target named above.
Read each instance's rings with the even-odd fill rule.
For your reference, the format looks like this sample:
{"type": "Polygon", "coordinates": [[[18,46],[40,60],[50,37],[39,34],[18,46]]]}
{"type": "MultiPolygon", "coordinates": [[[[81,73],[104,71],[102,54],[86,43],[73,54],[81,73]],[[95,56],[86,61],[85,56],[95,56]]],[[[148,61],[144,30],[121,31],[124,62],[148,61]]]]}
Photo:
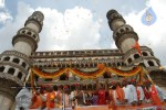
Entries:
{"type": "Polygon", "coordinates": [[[152,97],[152,100],[155,105],[157,106],[162,106],[162,101],[158,97],[158,94],[157,94],[157,90],[155,88],[155,85],[152,86],[152,90],[151,90],[151,97],[152,97]]]}

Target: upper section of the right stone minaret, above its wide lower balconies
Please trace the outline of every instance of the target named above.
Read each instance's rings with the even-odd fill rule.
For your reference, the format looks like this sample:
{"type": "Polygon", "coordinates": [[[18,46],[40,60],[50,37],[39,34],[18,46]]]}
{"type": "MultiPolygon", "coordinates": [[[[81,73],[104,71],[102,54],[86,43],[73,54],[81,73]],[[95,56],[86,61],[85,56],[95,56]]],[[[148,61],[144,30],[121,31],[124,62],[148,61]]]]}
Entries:
{"type": "Polygon", "coordinates": [[[113,38],[116,46],[126,53],[138,40],[137,34],[134,32],[131,25],[127,25],[123,16],[115,10],[111,10],[106,14],[108,25],[113,33],[113,38]]]}

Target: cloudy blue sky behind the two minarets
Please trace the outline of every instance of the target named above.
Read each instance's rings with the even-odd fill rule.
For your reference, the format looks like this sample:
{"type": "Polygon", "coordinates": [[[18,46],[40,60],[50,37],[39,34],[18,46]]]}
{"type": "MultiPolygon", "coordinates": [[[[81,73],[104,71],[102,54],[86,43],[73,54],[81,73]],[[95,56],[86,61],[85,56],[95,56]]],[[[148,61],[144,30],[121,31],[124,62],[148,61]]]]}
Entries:
{"type": "Polygon", "coordinates": [[[0,0],[0,53],[12,50],[12,37],[39,10],[44,14],[37,51],[116,48],[106,12],[117,10],[134,28],[139,45],[148,46],[166,65],[166,0],[0,0]],[[155,21],[142,20],[146,10],[155,21]]]}

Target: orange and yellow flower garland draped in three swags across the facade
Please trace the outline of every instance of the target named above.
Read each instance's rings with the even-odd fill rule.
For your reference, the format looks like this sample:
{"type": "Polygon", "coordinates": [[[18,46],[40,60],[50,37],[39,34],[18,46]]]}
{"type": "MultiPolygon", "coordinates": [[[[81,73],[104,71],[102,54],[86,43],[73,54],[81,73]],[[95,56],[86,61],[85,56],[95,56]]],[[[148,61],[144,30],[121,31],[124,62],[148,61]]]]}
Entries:
{"type": "Polygon", "coordinates": [[[124,72],[124,70],[120,70],[117,68],[105,67],[103,65],[98,66],[97,70],[94,70],[91,73],[85,73],[85,72],[82,72],[82,70],[76,69],[76,68],[63,68],[63,69],[60,69],[60,70],[54,72],[54,73],[44,73],[44,72],[41,72],[39,68],[32,68],[33,74],[35,74],[42,78],[55,78],[55,77],[60,77],[64,73],[71,72],[74,75],[76,75],[83,79],[97,78],[97,77],[102,76],[105,72],[106,73],[114,73],[118,76],[129,77],[129,76],[134,76],[134,75],[138,74],[141,70],[142,70],[142,68],[139,66],[133,68],[129,72],[124,72]]]}

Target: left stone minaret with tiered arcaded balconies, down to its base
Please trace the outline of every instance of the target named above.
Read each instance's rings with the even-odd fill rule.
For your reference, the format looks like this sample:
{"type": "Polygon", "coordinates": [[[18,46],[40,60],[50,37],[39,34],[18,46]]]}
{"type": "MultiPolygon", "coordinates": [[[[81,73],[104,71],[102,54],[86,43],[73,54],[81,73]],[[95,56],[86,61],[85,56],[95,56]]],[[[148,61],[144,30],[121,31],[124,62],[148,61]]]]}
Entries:
{"type": "Polygon", "coordinates": [[[0,55],[0,110],[11,110],[15,95],[23,86],[30,72],[29,56],[38,48],[39,33],[42,30],[44,15],[40,11],[33,12],[13,36],[13,51],[6,51],[0,55]]]}

